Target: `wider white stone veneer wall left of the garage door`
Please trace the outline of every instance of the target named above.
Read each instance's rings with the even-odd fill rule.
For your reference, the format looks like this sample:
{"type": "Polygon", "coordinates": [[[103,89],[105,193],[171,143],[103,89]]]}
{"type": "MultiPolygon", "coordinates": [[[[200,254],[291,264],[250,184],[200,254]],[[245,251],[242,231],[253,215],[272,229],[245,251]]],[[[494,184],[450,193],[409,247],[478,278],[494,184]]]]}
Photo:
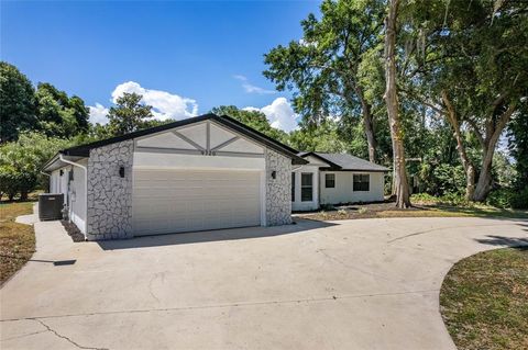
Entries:
{"type": "Polygon", "coordinates": [[[89,240],[132,237],[132,162],[134,142],[90,150],[88,159],[89,240]],[[124,167],[124,178],[119,168],[124,167]]]}

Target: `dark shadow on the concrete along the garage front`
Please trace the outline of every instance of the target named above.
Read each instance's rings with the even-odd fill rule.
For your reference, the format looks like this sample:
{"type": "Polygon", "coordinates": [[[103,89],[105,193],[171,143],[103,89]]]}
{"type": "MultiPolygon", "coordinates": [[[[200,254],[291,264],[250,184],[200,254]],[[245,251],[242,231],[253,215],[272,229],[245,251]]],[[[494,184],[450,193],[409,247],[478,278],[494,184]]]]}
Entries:
{"type": "Polygon", "coordinates": [[[310,219],[295,219],[296,224],[273,226],[273,227],[243,227],[243,228],[228,228],[205,230],[195,233],[182,233],[182,234],[164,234],[152,235],[144,237],[134,237],[131,239],[117,239],[117,240],[98,240],[97,244],[103,250],[114,249],[131,249],[131,248],[144,248],[144,247],[158,247],[158,246],[172,246],[172,245],[187,245],[197,242],[219,241],[219,240],[233,240],[233,239],[248,239],[248,238],[262,238],[273,237],[280,235],[298,234],[311,229],[337,226],[339,224],[326,223],[310,219]]]}

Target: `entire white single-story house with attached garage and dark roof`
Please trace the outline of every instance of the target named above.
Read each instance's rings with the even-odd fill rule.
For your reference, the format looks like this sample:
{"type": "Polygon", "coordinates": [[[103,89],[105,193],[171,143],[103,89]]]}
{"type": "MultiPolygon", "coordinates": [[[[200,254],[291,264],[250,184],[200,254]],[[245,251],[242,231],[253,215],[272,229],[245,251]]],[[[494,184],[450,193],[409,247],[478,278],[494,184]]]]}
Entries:
{"type": "Polygon", "coordinates": [[[290,224],[292,210],[383,200],[386,169],[206,114],[61,150],[43,171],[98,240],[290,224]]]}

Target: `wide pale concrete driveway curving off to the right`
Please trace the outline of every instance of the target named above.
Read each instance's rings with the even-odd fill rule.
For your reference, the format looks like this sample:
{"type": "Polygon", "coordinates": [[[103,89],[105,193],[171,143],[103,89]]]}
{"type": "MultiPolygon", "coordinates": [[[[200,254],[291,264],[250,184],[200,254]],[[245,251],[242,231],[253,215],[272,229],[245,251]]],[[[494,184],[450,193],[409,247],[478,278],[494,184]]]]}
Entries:
{"type": "Polygon", "coordinates": [[[459,259],[528,244],[528,222],[301,221],[273,228],[69,240],[1,292],[1,349],[453,349],[439,289],[459,259]]]}

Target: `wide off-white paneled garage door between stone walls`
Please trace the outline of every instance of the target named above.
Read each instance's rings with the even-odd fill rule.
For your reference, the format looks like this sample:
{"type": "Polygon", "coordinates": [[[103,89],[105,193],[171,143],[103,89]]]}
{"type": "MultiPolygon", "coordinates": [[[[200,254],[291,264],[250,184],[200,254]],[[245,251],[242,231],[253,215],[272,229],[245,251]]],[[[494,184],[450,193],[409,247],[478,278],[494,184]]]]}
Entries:
{"type": "Polygon", "coordinates": [[[257,171],[134,169],[135,236],[261,224],[257,171]]]}

